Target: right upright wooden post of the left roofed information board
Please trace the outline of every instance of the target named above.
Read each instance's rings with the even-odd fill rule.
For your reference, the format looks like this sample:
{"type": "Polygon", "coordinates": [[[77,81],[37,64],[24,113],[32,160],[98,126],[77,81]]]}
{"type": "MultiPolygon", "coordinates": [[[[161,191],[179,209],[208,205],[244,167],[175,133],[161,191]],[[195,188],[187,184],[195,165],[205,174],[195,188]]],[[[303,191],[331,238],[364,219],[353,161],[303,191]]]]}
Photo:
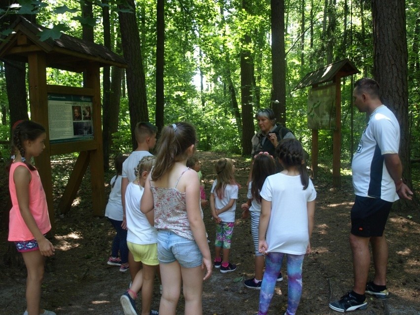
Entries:
{"type": "Polygon", "coordinates": [[[94,139],[97,143],[95,150],[89,151],[90,174],[92,183],[93,215],[103,216],[105,213],[105,178],[104,152],[102,142],[101,120],[101,82],[99,66],[89,66],[86,71],[87,87],[94,90],[92,99],[92,124],[94,139]]]}

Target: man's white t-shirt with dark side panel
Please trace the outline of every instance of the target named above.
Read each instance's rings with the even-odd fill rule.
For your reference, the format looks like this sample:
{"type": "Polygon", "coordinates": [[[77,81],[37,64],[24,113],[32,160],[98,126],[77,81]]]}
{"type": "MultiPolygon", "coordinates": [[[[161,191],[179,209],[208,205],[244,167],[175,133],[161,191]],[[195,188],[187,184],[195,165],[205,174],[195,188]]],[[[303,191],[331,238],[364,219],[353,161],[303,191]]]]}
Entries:
{"type": "Polygon", "coordinates": [[[384,154],[398,154],[399,143],[400,127],[395,115],[385,105],[377,107],[369,117],[351,163],[354,194],[388,202],[398,200],[384,154]]]}

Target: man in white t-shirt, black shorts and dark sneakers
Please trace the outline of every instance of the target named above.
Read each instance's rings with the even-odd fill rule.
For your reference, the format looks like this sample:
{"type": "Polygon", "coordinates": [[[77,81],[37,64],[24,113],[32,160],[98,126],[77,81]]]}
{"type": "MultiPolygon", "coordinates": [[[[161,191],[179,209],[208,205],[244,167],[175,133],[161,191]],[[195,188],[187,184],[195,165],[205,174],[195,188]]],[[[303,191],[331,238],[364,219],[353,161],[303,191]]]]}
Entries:
{"type": "Polygon", "coordinates": [[[353,290],[329,307],[338,312],[367,308],[365,293],[388,298],[386,265],[388,245],[384,236],[392,203],[412,199],[413,193],[402,180],[398,156],[400,127],[395,115],[382,104],[378,82],[363,78],[354,83],[354,105],[369,114],[369,122],[351,164],[356,195],[351,209],[350,245],[353,254],[353,290]],[[372,245],[375,277],[367,282],[372,245]]]}

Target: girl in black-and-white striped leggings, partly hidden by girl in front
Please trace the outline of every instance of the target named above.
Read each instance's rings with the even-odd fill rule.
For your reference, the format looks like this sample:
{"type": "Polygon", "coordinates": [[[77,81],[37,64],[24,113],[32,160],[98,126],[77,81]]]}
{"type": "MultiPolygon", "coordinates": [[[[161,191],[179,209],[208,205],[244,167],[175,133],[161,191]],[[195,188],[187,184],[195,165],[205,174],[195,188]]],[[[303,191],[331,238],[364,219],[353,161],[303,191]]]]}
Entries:
{"type": "MultiPolygon", "coordinates": [[[[246,219],[251,215],[251,235],[255,248],[255,277],[245,280],[244,284],[250,289],[261,288],[264,269],[264,255],[258,251],[258,225],[261,214],[260,191],[267,176],[277,173],[276,163],[268,152],[259,152],[254,156],[252,164],[252,178],[248,184],[247,202],[242,205],[242,217],[246,219]]],[[[277,281],[283,280],[281,273],[277,281]]]]}

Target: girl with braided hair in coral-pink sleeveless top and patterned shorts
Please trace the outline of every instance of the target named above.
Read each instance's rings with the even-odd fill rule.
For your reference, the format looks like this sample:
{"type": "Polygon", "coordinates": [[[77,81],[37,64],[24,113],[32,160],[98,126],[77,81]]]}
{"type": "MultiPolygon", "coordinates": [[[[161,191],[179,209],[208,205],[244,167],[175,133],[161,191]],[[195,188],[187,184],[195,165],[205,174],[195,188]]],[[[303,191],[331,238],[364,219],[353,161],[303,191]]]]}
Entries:
{"type": "Polygon", "coordinates": [[[45,139],[44,127],[33,121],[22,121],[13,130],[15,157],[9,173],[12,209],[8,240],[22,253],[28,271],[24,315],[55,315],[39,308],[45,256],[54,255],[54,246],[45,238],[51,223],[45,192],[31,159],[41,154],[45,139]]]}

